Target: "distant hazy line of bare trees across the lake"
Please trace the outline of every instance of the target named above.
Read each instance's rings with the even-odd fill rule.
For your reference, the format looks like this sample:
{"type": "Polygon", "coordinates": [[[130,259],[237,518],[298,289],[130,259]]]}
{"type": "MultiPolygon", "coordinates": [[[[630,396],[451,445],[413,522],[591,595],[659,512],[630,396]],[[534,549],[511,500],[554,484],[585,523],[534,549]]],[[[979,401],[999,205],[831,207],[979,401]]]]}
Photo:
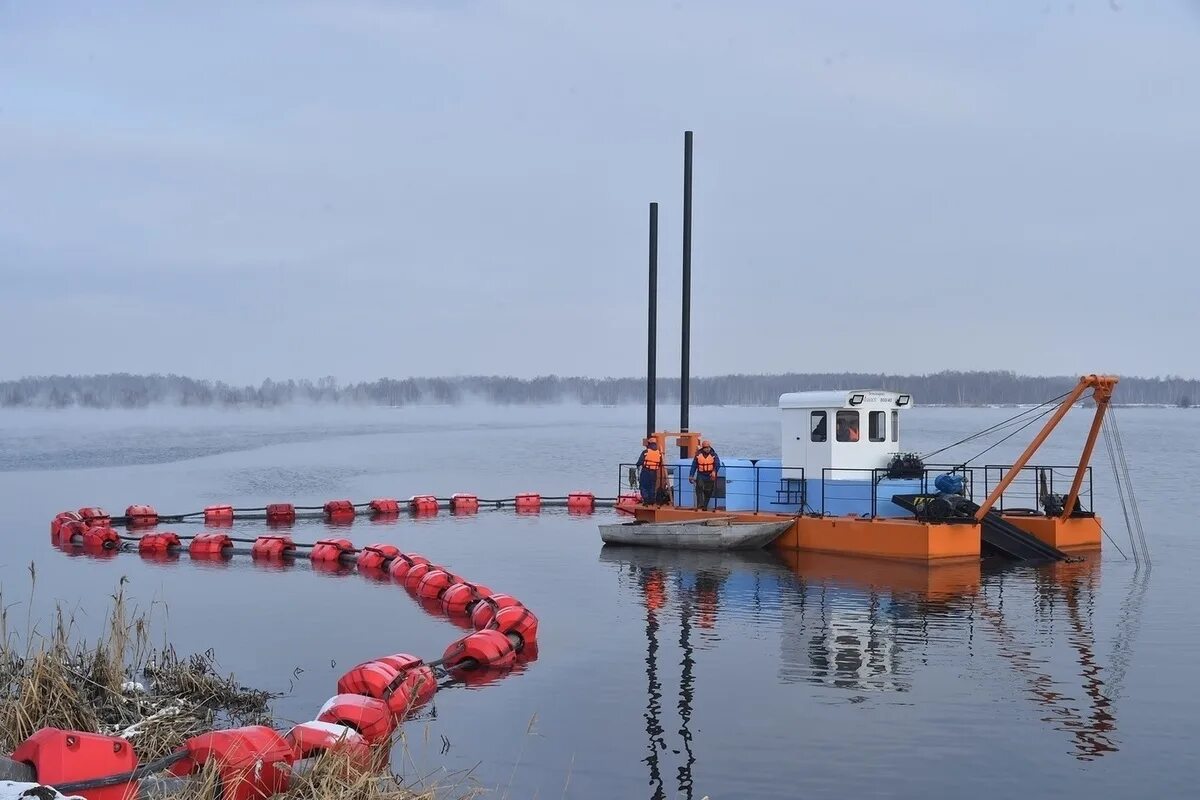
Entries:
{"type": "MultiPolygon", "coordinates": [[[[785,392],[818,389],[889,389],[910,392],[926,405],[989,405],[1042,403],[1075,385],[1074,377],[1018,375],[1013,372],[938,372],[930,375],[872,373],[790,373],[692,378],[691,401],[697,405],[774,405],[785,392]]],[[[319,380],[264,380],[258,386],[233,386],[181,375],[50,375],[0,381],[2,408],[145,408],[260,407],[290,403],[356,403],[368,405],[449,405],[464,401],[494,404],[576,402],[589,405],[643,403],[642,378],[382,378],[338,384],[319,380]]],[[[679,379],[658,381],[660,402],[678,402],[679,379]]],[[[1122,378],[1114,398],[1120,404],[1178,405],[1200,401],[1200,380],[1184,378],[1122,378]]]]}

